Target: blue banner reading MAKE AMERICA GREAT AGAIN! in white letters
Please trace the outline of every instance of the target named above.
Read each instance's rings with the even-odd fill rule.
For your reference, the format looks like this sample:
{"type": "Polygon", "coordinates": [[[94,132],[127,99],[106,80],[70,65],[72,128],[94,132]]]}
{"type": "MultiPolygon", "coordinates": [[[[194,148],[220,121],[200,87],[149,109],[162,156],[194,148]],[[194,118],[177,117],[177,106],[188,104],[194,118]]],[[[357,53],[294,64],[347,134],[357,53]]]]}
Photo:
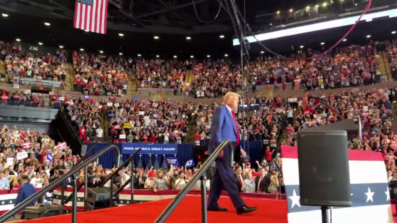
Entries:
{"type": "Polygon", "coordinates": [[[121,143],[121,154],[133,154],[138,149],[139,154],[177,154],[177,144],[145,144],[145,143],[121,143]]]}

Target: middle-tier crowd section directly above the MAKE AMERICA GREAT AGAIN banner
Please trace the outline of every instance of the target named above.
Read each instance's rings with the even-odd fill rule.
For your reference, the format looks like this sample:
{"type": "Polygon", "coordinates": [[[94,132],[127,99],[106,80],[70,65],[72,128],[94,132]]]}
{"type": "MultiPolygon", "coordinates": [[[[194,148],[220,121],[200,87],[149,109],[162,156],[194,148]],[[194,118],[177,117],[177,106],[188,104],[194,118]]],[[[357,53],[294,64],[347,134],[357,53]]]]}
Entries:
{"type": "Polygon", "coordinates": [[[69,98],[64,109],[79,127],[85,143],[103,137],[101,123],[109,121],[108,134],[113,142],[152,142],[181,144],[188,131],[192,104],[171,101],[106,100],[69,98]]]}

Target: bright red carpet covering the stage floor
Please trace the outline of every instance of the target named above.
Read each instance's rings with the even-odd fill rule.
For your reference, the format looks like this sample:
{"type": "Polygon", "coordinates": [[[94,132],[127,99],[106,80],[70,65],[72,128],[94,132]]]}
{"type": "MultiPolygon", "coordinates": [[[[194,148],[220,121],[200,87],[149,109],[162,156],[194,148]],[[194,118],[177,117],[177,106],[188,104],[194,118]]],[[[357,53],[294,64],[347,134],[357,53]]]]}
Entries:
{"type": "MultiPolygon", "coordinates": [[[[77,213],[77,222],[116,223],[135,221],[140,223],[154,222],[165,210],[172,199],[132,204],[116,208],[85,211],[77,213]]],[[[221,197],[219,205],[227,212],[208,212],[208,222],[272,222],[287,223],[286,200],[244,198],[247,206],[256,206],[258,210],[246,215],[237,215],[228,197],[221,197]]],[[[23,223],[70,223],[71,215],[60,215],[41,219],[20,221],[23,223]]],[[[188,195],[175,209],[167,222],[201,223],[200,196],[188,195]]]]}

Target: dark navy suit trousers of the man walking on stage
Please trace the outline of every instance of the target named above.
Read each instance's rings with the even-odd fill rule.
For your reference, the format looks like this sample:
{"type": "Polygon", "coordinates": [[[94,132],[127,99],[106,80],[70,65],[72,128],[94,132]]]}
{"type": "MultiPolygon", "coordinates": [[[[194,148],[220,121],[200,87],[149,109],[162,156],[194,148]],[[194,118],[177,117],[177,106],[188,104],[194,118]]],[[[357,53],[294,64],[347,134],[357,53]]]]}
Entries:
{"type": "Polygon", "coordinates": [[[229,193],[229,197],[236,210],[245,206],[239,194],[239,189],[235,182],[233,169],[222,160],[215,160],[215,170],[211,179],[210,196],[208,198],[208,208],[219,208],[218,200],[222,189],[229,193]],[[233,182],[233,183],[232,183],[233,182]]]}

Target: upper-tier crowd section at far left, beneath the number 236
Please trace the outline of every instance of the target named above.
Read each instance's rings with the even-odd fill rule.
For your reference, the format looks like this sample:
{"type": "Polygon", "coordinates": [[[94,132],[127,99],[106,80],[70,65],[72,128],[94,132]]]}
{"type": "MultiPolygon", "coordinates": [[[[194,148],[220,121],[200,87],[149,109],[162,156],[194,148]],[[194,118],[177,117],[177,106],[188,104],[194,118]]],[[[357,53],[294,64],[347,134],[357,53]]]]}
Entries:
{"type": "Polygon", "coordinates": [[[1,72],[1,83],[24,84],[24,78],[65,81],[66,55],[55,53],[33,53],[16,44],[0,41],[1,57],[5,72],[1,72]],[[19,77],[14,81],[14,77],[19,77]]]}

